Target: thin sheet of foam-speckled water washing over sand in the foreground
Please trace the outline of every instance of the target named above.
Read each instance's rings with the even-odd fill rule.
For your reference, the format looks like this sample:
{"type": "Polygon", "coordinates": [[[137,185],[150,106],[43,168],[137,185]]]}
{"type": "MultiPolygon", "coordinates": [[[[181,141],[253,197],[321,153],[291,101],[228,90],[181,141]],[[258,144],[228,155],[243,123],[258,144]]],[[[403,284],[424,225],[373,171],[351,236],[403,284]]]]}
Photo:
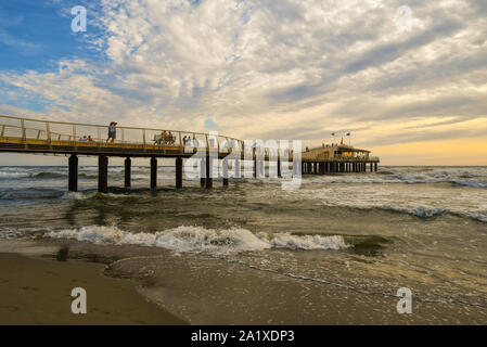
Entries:
{"type": "Polygon", "coordinates": [[[424,303],[414,295],[412,313],[399,314],[394,296],[190,254],[123,259],[106,272],[142,279],[141,269],[149,277],[141,293],[191,324],[484,324],[487,319],[485,308],[424,303]]]}

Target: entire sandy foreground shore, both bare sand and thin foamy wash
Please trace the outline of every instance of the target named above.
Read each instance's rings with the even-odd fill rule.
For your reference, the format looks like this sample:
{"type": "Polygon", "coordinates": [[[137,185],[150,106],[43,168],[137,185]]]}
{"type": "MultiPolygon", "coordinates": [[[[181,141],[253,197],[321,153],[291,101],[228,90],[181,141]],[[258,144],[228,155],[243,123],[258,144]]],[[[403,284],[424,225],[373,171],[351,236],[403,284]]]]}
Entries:
{"type": "Polygon", "coordinates": [[[398,314],[397,297],[257,269],[245,259],[82,242],[0,246],[0,325],[482,324],[487,314],[485,308],[416,299],[413,314],[398,314]],[[67,261],[53,260],[67,245],[67,261]],[[120,253],[127,257],[116,260],[120,253]],[[87,291],[87,314],[71,312],[74,287],[87,291]]]}

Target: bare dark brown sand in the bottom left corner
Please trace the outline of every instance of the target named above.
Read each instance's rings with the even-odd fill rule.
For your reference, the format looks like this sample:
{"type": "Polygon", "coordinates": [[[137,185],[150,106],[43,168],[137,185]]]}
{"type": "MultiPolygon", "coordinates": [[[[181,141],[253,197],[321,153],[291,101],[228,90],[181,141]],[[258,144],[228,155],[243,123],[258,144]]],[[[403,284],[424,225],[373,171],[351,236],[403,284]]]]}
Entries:
{"type": "Polygon", "coordinates": [[[0,324],[184,324],[103,268],[0,253],[0,324]],[[71,311],[74,287],[87,291],[87,314],[71,311]]]}

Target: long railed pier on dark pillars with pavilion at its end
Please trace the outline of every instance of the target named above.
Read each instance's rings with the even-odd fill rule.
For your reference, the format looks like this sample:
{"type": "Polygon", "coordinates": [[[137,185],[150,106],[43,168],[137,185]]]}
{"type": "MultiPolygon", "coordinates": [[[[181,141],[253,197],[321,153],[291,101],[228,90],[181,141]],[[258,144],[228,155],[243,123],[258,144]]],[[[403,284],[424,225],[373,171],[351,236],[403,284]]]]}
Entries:
{"type": "MultiPolygon", "coordinates": [[[[326,172],[363,172],[367,165],[377,170],[377,157],[369,151],[346,145],[322,146],[294,155],[293,149],[280,151],[261,149],[255,142],[212,133],[116,127],[116,138],[108,139],[108,126],[29,119],[0,115],[0,152],[67,155],[68,190],[78,190],[78,157],[97,156],[99,167],[98,190],[108,190],[108,158],[125,158],[125,187],[131,185],[131,158],[149,158],[150,187],[157,187],[157,159],[174,158],[176,188],[182,188],[183,159],[197,157],[201,185],[213,188],[215,177],[222,178],[223,187],[229,178],[240,178],[242,164],[253,162],[254,177],[265,176],[266,162],[277,162],[277,175],[281,177],[283,165],[293,163],[293,175],[326,172]],[[184,140],[185,139],[185,140],[184,140]],[[247,144],[247,145],[246,145],[247,144]],[[300,165],[296,165],[298,159],[300,165]],[[221,171],[215,172],[214,160],[221,160],[221,171]],[[233,160],[233,174],[229,162],[233,160]],[[299,172],[300,170],[300,172],[299,172]]],[[[289,168],[289,167],[287,167],[289,168]]]]}

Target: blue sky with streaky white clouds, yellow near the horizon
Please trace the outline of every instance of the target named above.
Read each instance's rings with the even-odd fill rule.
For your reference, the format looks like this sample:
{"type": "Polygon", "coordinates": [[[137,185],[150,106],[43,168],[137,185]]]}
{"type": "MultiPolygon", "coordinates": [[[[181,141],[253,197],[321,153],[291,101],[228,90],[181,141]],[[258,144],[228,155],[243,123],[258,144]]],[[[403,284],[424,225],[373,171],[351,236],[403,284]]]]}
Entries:
{"type": "Polygon", "coordinates": [[[485,0],[0,0],[0,114],[487,165],[486,39],[485,0]]]}

